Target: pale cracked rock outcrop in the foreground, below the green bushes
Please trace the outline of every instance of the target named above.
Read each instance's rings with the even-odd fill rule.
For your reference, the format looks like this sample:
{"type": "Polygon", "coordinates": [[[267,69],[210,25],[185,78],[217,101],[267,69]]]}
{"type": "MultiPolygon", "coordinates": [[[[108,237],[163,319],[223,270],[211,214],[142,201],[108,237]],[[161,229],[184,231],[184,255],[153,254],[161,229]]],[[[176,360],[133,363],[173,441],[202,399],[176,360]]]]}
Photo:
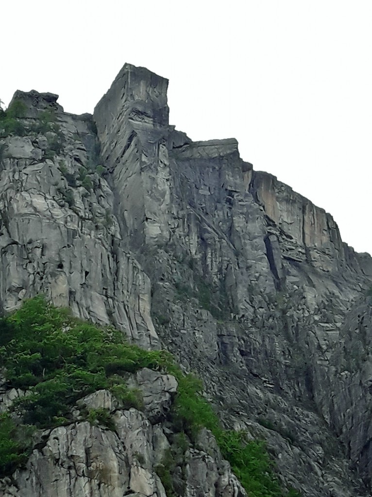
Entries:
{"type": "MultiPolygon", "coordinates": [[[[150,375],[149,370],[138,372],[145,379],[150,375]]],[[[161,410],[167,410],[169,389],[176,393],[177,381],[170,375],[158,375],[159,380],[166,389],[158,389],[152,400],[161,410]]],[[[171,449],[169,439],[172,442],[174,433],[170,426],[151,422],[151,417],[136,409],[120,409],[119,402],[108,391],[91,394],[78,404],[79,409],[85,406],[107,410],[114,429],[80,419],[39,431],[25,467],[16,470],[11,479],[0,480],[0,495],[166,497],[157,472],[164,467],[171,449]]],[[[79,419],[80,412],[75,411],[75,416],[79,419]]],[[[177,442],[173,441],[173,445],[177,442]]],[[[246,495],[207,430],[200,432],[194,447],[182,449],[182,467],[178,468],[183,471],[185,495],[200,495],[200,492],[211,497],[246,495]]]]}

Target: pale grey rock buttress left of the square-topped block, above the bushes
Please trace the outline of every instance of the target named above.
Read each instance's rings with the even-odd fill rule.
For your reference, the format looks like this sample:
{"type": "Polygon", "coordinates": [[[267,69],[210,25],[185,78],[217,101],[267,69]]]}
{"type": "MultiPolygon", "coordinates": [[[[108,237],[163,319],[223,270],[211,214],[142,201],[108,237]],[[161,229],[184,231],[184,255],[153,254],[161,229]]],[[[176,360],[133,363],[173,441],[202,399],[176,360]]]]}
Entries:
{"type": "Polygon", "coordinates": [[[82,318],[114,323],[155,346],[150,280],[123,246],[114,194],[96,172],[92,116],[63,113],[49,93],[17,91],[14,98],[35,102],[23,120],[27,131],[37,112],[52,110],[57,122],[45,132],[1,139],[2,309],[42,291],[82,318]]]}

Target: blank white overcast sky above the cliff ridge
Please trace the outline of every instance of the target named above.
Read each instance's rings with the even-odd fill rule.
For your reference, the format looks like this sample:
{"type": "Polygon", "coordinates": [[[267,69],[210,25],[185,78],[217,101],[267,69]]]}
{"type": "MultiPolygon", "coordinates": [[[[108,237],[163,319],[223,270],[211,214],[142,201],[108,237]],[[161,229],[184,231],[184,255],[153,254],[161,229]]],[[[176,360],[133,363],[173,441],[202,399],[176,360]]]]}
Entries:
{"type": "Polygon", "coordinates": [[[330,212],[372,253],[372,1],[3,0],[0,98],[51,91],[74,113],[125,62],[170,80],[170,121],[330,212]]]}

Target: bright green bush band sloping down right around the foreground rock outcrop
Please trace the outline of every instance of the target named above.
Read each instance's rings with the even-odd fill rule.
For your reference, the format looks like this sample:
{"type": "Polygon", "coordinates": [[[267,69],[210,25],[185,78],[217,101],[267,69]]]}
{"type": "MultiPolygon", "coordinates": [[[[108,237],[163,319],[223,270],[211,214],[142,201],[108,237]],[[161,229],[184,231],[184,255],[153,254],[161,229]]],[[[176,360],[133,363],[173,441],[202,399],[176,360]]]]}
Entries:
{"type": "MultiPolygon", "coordinates": [[[[128,373],[147,367],[173,374],[179,383],[169,420],[179,432],[183,454],[186,435],[195,441],[200,428],[215,436],[223,457],[250,497],[296,497],[285,494],[273,471],[265,443],[247,441],[244,432],[224,430],[212,406],[202,395],[202,383],[193,374],[185,375],[164,350],[143,350],[123,341],[113,328],[99,328],[73,318],[67,309],[56,309],[41,296],[25,301],[8,317],[0,319],[0,367],[9,387],[28,390],[12,406],[17,414],[0,416],[0,474],[11,473],[28,457],[30,433],[71,420],[71,408],[78,399],[107,389],[123,407],[141,407],[141,394],[126,385],[128,373]],[[186,434],[186,435],[185,435],[186,434]]],[[[114,428],[110,414],[88,410],[92,424],[114,428]]],[[[172,464],[166,460],[156,468],[169,495],[174,492],[172,464]]],[[[168,495],[168,494],[167,494],[168,495]]]]}

